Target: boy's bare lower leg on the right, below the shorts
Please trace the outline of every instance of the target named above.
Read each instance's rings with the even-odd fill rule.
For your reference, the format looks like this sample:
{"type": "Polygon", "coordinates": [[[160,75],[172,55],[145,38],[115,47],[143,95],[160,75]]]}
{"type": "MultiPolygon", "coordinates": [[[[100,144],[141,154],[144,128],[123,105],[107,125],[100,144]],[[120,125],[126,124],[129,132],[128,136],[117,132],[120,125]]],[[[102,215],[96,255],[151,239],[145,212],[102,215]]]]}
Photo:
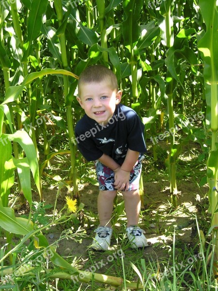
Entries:
{"type": "Polygon", "coordinates": [[[131,191],[122,191],[125,201],[125,213],[127,218],[127,226],[138,226],[140,215],[140,193],[139,189],[131,191]]]}

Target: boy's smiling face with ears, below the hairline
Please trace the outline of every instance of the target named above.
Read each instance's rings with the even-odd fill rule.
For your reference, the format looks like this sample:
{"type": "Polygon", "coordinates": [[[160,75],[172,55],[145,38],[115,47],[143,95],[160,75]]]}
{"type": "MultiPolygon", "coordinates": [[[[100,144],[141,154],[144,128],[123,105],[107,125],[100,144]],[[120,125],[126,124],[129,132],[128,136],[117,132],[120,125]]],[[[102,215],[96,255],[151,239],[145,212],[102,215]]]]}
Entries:
{"type": "Polygon", "coordinates": [[[112,90],[109,81],[106,80],[99,83],[81,83],[80,96],[77,100],[90,118],[107,125],[121,97],[122,92],[112,90]]]}

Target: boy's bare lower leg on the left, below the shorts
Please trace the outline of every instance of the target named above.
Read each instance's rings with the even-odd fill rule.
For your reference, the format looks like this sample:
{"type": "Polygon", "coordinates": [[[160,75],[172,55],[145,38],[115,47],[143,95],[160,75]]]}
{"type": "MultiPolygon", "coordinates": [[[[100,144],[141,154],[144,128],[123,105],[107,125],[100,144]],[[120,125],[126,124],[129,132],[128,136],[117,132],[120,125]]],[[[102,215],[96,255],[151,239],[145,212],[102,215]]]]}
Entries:
{"type": "Polygon", "coordinates": [[[111,216],[113,211],[113,200],[116,197],[117,190],[103,191],[100,190],[98,194],[98,217],[99,226],[111,227],[111,216]]]}

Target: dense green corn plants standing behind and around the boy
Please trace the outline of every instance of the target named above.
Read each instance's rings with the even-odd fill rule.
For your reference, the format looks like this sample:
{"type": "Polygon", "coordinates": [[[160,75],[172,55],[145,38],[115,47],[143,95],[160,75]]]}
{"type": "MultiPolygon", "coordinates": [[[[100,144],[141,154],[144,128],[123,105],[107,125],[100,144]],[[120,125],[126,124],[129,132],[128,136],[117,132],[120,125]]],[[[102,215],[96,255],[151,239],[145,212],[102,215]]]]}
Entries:
{"type": "MultiPolygon", "coordinates": [[[[218,201],[217,192],[212,190],[218,189],[217,7],[215,0],[209,8],[206,1],[199,0],[199,3],[202,14],[196,0],[185,3],[181,0],[0,1],[1,227],[8,230],[10,226],[12,232],[25,235],[24,241],[35,236],[43,248],[49,248],[30,219],[16,218],[8,207],[16,172],[19,191],[30,205],[31,173],[42,194],[43,173],[56,155],[70,154],[69,181],[63,177],[58,179],[68,188],[68,184],[72,184],[75,196],[78,195],[78,180],[91,180],[77,173],[82,158],[72,140],[82,111],[75,95],[80,73],[87,66],[99,63],[116,74],[124,92],[122,102],[132,107],[145,123],[145,138],[149,134],[158,135],[164,128],[172,129],[167,165],[174,207],[178,192],[176,165],[182,148],[190,140],[202,143],[205,138],[201,129],[188,122],[184,113],[185,95],[191,91],[187,94],[192,96],[193,104],[205,95],[207,126],[212,132],[207,180],[216,236],[218,201]],[[202,16],[207,29],[197,37],[204,60],[205,91],[198,71],[195,43],[202,16]],[[196,80],[199,84],[194,86],[196,80]],[[180,104],[179,113],[175,104],[180,104]],[[37,120],[48,111],[53,114],[52,127],[56,129],[53,134],[49,133],[45,120],[42,127],[36,126],[37,120]],[[183,129],[181,135],[176,132],[175,123],[183,129]],[[40,152],[39,139],[44,154],[40,152]],[[54,141],[62,145],[57,146],[54,141]],[[25,145],[27,142],[29,147],[25,145]],[[40,167],[39,157],[43,158],[40,167]]],[[[153,156],[158,163],[156,144],[153,156]]],[[[140,192],[143,193],[142,180],[140,192]]],[[[10,243],[11,234],[6,233],[6,236],[10,243]]],[[[12,251],[9,248],[7,256],[12,251]]],[[[56,255],[54,261],[61,267],[69,267],[56,255]]],[[[67,272],[63,273],[59,276],[70,277],[67,272]]],[[[84,280],[90,278],[91,275],[84,280]]],[[[97,276],[94,279],[98,280],[97,276]]],[[[118,281],[122,285],[123,280],[118,281]]],[[[143,288],[143,284],[140,287],[143,288]]]]}

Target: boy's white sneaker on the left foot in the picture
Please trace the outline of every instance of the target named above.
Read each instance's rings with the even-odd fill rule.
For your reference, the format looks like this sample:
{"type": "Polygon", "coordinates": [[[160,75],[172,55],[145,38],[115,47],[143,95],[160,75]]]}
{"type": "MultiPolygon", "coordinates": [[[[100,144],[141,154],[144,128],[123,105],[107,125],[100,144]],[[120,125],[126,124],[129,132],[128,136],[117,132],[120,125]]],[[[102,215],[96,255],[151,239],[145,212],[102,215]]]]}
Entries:
{"type": "Polygon", "coordinates": [[[94,230],[96,235],[93,239],[91,247],[94,250],[108,250],[110,246],[110,239],[112,236],[112,228],[108,226],[100,226],[94,230]]]}

